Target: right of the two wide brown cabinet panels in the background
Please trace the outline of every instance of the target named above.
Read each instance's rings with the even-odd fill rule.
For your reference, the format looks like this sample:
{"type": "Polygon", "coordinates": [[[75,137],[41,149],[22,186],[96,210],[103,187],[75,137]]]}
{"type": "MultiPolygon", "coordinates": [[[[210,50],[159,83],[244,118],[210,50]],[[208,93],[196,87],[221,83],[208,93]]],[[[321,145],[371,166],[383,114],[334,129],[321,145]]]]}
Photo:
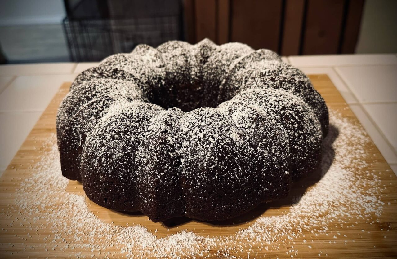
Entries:
{"type": "Polygon", "coordinates": [[[302,54],[338,53],[344,5],[344,0],[308,0],[302,54]]]}

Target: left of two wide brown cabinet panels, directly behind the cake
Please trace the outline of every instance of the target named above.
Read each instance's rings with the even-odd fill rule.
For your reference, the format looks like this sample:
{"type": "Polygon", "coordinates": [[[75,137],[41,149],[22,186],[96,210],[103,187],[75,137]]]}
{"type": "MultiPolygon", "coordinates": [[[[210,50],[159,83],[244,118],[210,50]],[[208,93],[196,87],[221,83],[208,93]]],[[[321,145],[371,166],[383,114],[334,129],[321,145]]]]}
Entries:
{"type": "Polygon", "coordinates": [[[231,0],[231,41],[278,51],[281,0],[231,0]]]}

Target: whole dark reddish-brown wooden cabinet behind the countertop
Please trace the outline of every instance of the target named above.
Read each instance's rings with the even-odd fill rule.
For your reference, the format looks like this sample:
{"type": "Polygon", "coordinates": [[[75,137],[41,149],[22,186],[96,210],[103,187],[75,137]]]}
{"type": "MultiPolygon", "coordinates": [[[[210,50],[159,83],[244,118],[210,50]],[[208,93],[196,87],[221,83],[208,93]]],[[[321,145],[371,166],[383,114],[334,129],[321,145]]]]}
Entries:
{"type": "Polygon", "coordinates": [[[184,0],[187,40],[281,55],[353,53],[364,0],[184,0]]]}

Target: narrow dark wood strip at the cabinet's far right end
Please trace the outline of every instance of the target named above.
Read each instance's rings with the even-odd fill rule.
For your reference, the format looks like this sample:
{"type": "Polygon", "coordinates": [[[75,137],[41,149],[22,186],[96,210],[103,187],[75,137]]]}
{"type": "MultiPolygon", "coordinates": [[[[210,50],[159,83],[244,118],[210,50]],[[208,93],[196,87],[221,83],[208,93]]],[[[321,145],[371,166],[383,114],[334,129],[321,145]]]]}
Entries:
{"type": "Polygon", "coordinates": [[[347,10],[345,32],[343,34],[341,53],[354,53],[358,32],[360,31],[362,9],[364,0],[350,0],[347,10]]]}

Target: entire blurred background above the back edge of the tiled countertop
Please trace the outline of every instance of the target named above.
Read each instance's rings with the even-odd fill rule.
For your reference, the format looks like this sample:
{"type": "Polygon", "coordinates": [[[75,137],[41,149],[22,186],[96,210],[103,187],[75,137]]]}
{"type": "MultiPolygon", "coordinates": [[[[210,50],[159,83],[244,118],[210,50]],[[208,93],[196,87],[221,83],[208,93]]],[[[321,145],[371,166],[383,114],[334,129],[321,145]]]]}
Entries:
{"type": "Polygon", "coordinates": [[[394,0],[0,0],[0,62],[100,61],[203,38],[283,56],[395,53],[395,13],[394,0]]]}

